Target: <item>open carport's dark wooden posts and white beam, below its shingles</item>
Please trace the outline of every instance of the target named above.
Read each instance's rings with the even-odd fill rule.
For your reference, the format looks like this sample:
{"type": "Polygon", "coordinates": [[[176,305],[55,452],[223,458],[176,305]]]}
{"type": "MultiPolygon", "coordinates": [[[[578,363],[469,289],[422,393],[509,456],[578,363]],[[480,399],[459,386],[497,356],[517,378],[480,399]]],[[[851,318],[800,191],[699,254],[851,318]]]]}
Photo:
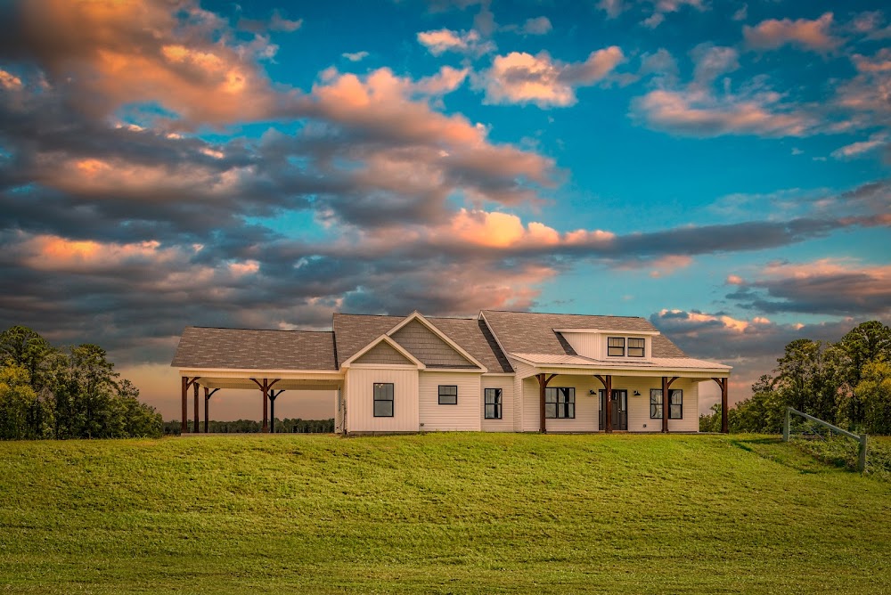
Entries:
{"type": "Polygon", "coordinates": [[[182,378],[183,434],[201,432],[200,404],[203,401],[203,432],[208,433],[210,420],[210,402],[221,389],[239,389],[251,391],[246,398],[259,397],[257,412],[262,408],[263,428],[265,433],[274,432],[275,401],[282,393],[298,393],[307,390],[331,390],[337,392],[337,403],[332,416],[335,428],[342,422],[343,409],[341,389],[343,374],[339,371],[282,371],[282,370],[225,370],[225,369],[187,369],[180,370],[182,378]],[[189,423],[189,396],[192,393],[192,424],[189,423]]]}

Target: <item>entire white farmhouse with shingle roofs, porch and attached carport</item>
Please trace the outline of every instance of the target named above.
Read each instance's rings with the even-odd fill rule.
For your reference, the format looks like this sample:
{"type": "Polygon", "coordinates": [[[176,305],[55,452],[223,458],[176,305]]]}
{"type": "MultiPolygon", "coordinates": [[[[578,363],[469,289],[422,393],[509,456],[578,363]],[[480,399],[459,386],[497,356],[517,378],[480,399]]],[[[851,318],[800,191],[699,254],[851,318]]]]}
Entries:
{"type": "MultiPolygon", "coordinates": [[[[331,331],[188,327],[173,367],[188,394],[337,391],[336,431],[696,432],[699,383],[730,366],[684,355],[646,319],[483,310],[476,318],[334,314],[331,331]],[[608,404],[609,403],[609,406],[608,404]]],[[[274,412],[274,410],[273,410],[274,412]]]]}

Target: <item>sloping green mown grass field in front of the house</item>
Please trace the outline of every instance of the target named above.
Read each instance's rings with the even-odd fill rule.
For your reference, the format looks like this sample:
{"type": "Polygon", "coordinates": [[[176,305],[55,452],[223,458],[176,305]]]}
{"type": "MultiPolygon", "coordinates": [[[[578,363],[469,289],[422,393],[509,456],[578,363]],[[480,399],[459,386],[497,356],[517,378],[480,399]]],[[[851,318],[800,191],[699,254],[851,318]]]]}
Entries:
{"type": "Polygon", "coordinates": [[[0,443],[0,592],[889,585],[891,483],[764,436],[0,443]]]}

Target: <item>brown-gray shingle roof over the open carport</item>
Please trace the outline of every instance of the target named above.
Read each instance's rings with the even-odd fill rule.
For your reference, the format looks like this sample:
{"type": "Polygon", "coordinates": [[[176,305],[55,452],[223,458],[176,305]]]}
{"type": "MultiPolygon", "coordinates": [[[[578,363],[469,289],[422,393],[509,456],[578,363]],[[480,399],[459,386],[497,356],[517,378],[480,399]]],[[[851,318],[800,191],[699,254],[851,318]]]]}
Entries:
{"type": "Polygon", "coordinates": [[[186,327],[170,364],[176,368],[336,371],[330,330],[186,327]]]}

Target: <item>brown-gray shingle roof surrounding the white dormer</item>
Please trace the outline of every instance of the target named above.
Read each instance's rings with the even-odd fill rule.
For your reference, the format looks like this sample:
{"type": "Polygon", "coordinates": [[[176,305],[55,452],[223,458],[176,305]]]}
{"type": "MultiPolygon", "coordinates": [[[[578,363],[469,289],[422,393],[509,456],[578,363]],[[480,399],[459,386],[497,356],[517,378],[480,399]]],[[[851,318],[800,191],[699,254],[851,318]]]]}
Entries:
{"type": "MultiPolygon", "coordinates": [[[[601,329],[626,332],[657,330],[638,316],[595,316],[588,314],[540,314],[483,310],[495,337],[508,353],[574,355],[572,347],[554,329],[601,329]]],[[[653,337],[653,357],[686,357],[663,335],[653,337]]]]}

